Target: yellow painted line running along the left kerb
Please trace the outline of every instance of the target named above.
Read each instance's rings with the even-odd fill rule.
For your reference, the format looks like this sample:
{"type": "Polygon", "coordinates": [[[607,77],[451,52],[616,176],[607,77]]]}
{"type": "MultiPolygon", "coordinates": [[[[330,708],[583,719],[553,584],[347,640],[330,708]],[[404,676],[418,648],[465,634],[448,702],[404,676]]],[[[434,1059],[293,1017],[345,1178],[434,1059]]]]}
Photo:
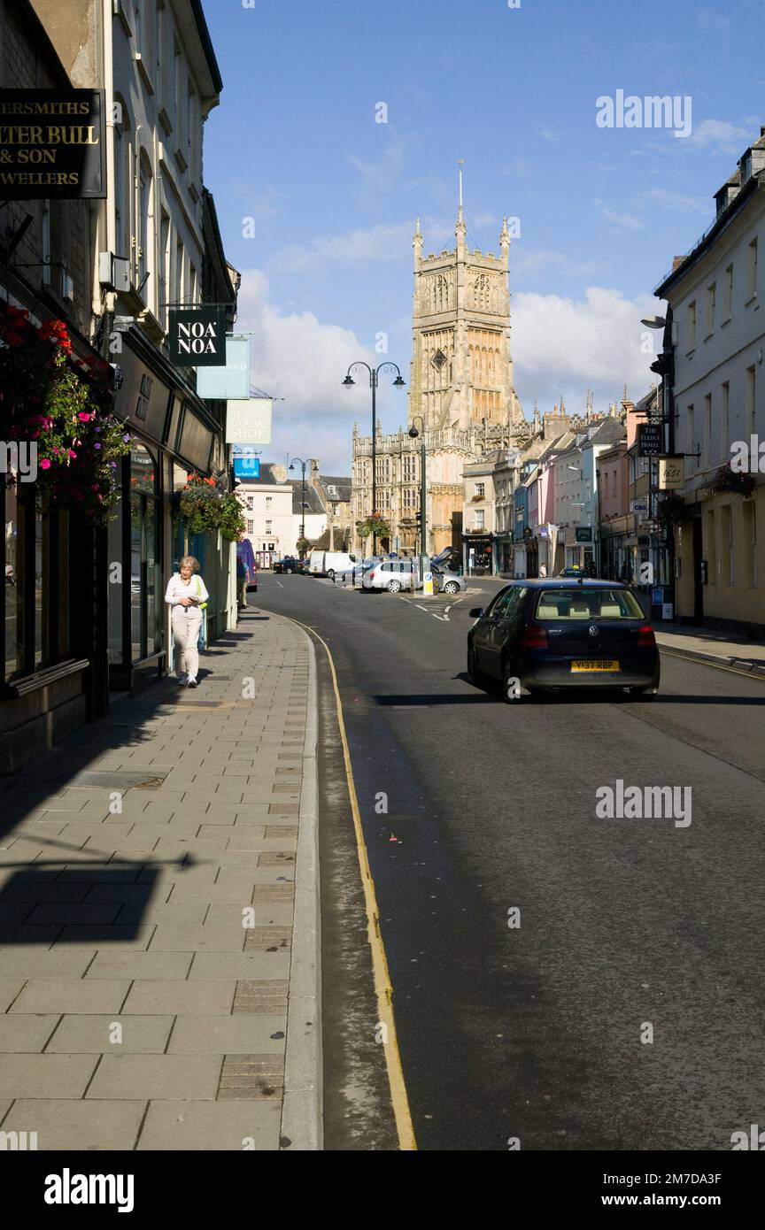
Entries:
{"type": "Polygon", "coordinates": [[[337,706],[337,722],[339,726],[341,743],[343,745],[346,779],[348,781],[348,797],[351,800],[351,811],[353,813],[353,828],[355,831],[359,870],[362,872],[364,902],[367,905],[367,934],[369,937],[369,946],[371,948],[371,968],[374,973],[375,993],[378,996],[378,1012],[380,1016],[380,1022],[387,1026],[387,1042],[384,1044],[382,1049],[385,1052],[385,1064],[387,1068],[387,1080],[390,1084],[391,1102],[394,1107],[394,1114],[396,1118],[396,1130],[398,1133],[398,1148],[401,1150],[413,1151],[417,1149],[417,1140],[414,1138],[414,1124],[412,1123],[412,1113],[410,1111],[410,1098],[406,1091],[406,1080],[403,1076],[403,1068],[401,1065],[401,1053],[398,1050],[398,1038],[396,1034],[396,1020],[394,1016],[394,988],[391,986],[390,972],[387,968],[385,943],[382,942],[382,935],[380,934],[380,910],[378,907],[378,898],[375,893],[375,883],[371,876],[371,867],[369,866],[367,843],[364,841],[362,813],[359,811],[359,801],[358,801],[358,795],[355,792],[353,765],[351,764],[351,750],[348,748],[346,722],[343,720],[343,702],[339,695],[337,672],[335,669],[335,659],[332,658],[332,651],[330,649],[330,646],[315,629],[310,627],[310,625],[307,624],[301,624],[300,620],[294,620],[294,622],[300,624],[300,627],[307,629],[309,632],[314,633],[317,641],[321,641],[327,654],[327,661],[330,663],[330,672],[332,674],[332,686],[335,689],[335,702],[337,706]]]}

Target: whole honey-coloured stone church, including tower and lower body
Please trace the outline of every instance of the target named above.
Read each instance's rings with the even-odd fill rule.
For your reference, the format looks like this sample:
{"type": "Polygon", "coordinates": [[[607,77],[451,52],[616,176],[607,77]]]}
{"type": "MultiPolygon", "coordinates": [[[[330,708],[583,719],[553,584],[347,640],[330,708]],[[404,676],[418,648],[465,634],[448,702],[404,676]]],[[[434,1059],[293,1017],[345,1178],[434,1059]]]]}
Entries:
{"type": "MultiPolygon", "coordinates": [[[[513,384],[510,353],[510,234],[499,256],[469,251],[460,203],[456,247],[422,255],[414,231],[412,364],[407,429],[376,438],[376,512],[391,528],[382,549],[419,550],[419,453],[426,439],[426,551],[459,545],[466,465],[497,449],[521,446],[530,434],[513,384]],[[421,435],[413,439],[408,428],[421,435]]],[[[371,508],[371,437],[353,429],[352,508],[362,522],[371,508]]],[[[357,550],[365,544],[357,540],[357,550]]]]}

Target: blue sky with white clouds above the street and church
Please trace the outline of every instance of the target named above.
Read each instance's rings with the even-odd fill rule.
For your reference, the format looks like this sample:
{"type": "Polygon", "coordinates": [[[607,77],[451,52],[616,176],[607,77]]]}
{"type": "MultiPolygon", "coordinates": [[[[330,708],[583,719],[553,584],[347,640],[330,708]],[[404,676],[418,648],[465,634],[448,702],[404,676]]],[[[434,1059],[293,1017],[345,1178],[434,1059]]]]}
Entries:
{"type": "MultiPolygon", "coordinates": [[[[230,261],[252,379],[274,405],[268,460],[314,453],[348,472],[369,391],[351,362],[387,355],[408,383],[412,230],[453,246],[465,159],[469,246],[510,248],[515,385],[530,417],[641,396],[640,316],[712,220],[713,192],[765,123],[764,2],[696,0],[207,0],[221,105],[204,175],[230,261]],[[599,128],[617,90],[691,98],[690,137],[599,128]],[[375,123],[384,102],[387,123],[375,123]],[[251,218],[252,237],[244,235],[251,218]]],[[[685,105],[686,106],[686,105],[685,105]]],[[[688,114],[688,112],[684,112],[688,114]]],[[[381,390],[385,430],[406,395],[381,390]]]]}

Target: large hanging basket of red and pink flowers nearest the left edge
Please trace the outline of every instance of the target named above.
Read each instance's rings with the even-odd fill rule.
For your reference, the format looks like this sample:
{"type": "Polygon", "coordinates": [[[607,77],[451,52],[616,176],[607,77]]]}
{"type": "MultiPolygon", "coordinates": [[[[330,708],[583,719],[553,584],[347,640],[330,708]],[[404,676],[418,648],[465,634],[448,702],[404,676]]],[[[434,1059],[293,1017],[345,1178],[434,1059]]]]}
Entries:
{"type": "Polygon", "coordinates": [[[132,443],[111,412],[109,365],[75,364],[64,322],[38,328],[28,316],[0,304],[0,439],[30,449],[41,512],[74,509],[105,525],[119,499],[118,459],[132,443]]]}

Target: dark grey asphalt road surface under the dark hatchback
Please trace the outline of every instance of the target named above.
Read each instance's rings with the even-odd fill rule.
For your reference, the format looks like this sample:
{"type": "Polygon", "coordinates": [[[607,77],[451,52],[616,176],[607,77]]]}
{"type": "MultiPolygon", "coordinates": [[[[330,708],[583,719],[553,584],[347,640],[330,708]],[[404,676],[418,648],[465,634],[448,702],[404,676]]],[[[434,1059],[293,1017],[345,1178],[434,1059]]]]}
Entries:
{"type": "Polygon", "coordinates": [[[418,1146],[729,1149],[765,1125],[765,683],[665,656],[652,705],[505,705],[471,584],[251,599],[335,658],[418,1146]],[[690,825],[597,818],[616,780],[691,787],[690,825]]]}

